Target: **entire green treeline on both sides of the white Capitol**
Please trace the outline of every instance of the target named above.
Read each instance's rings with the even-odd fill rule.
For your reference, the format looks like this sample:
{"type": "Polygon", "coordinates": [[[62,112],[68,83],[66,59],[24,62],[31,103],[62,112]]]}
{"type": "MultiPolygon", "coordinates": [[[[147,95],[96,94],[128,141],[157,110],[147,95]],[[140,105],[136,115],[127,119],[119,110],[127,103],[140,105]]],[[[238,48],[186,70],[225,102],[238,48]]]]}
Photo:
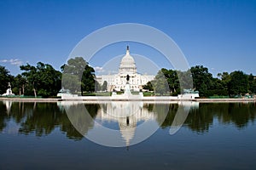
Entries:
{"type": "MultiPolygon", "coordinates": [[[[67,64],[56,71],[51,65],[38,62],[37,65],[20,65],[21,74],[10,75],[5,67],[0,65],[0,94],[4,94],[11,82],[13,93],[16,95],[32,95],[50,97],[56,96],[61,88],[69,89],[72,93],[93,93],[107,90],[108,84],[96,82],[94,69],[82,57],[69,59],[67,64]]],[[[193,88],[201,97],[213,95],[230,96],[256,94],[256,78],[243,71],[218,73],[212,77],[207,67],[196,65],[189,71],[174,71],[161,69],[154,81],[148,82],[144,89],[154,91],[155,94],[181,94],[180,79],[183,79],[183,88],[193,88]],[[192,80],[193,82],[188,80],[192,80]]]]}

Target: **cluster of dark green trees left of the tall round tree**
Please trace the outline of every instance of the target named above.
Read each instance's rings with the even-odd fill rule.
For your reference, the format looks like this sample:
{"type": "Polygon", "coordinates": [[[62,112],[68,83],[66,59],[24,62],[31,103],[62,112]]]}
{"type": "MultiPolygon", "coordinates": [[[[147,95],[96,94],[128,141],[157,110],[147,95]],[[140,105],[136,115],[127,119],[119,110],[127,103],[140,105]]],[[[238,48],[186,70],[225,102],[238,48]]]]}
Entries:
{"type": "Polygon", "coordinates": [[[16,77],[0,66],[0,94],[5,93],[8,82],[11,82],[13,94],[32,96],[55,96],[61,88],[61,72],[48,64],[38,62],[36,66],[20,65],[21,74],[16,77]]]}

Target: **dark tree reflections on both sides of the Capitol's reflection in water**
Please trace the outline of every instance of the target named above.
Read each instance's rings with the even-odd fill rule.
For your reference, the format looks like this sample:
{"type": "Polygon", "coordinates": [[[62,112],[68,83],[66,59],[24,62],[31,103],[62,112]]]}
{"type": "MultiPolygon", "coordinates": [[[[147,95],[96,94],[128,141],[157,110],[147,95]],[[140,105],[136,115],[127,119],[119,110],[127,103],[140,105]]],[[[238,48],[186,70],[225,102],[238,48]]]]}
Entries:
{"type": "MultiPolygon", "coordinates": [[[[161,127],[170,127],[177,113],[177,104],[148,104],[143,107],[154,112],[157,122],[161,127]],[[167,114],[167,115],[166,115],[167,114]]],[[[71,105],[71,109],[81,110],[84,105],[71,105]],[[72,108],[74,107],[74,108],[72,108]]],[[[85,105],[90,116],[95,118],[99,105],[85,105]]],[[[77,111],[78,111],[77,110],[77,111]]],[[[9,120],[20,124],[20,133],[35,133],[37,136],[48,135],[56,127],[67,134],[69,139],[82,139],[83,136],[70,122],[65,110],[61,110],[55,103],[23,103],[13,102],[9,114],[6,105],[0,101],[0,132],[6,127],[9,120]]],[[[81,110],[82,111],[82,110],[81,110]]],[[[84,111],[84,110],[83,110],[84,111]]],[[[83,133],[87,133],[94,126],[94,122],[86,122],[84,112],[74,114],[79,127],[83,133]],[[85,120],[85,122],[84,122],[85,120]]],[[[199,133],[206,132],[211,127],[213,119],[226,124],[234,124],[239,129],[246,127],[249,122],[256,119],[256,109],[254,103],[201,103],[198,109],[190,109],[189,116],[184,122],[184,126],[199,133]]]]}

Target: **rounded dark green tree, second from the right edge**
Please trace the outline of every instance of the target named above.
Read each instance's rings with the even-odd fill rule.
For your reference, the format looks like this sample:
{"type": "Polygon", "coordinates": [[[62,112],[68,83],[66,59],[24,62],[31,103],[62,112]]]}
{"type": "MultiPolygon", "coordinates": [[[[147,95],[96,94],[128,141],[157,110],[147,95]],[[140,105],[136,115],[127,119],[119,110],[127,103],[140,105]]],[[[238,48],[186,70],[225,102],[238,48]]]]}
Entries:
{"type": "Polygon", "coordinates": [[[242,71],[230,73],[229,93],[230,95],[247,94],[249,88],[248,77],[242,71]]]}

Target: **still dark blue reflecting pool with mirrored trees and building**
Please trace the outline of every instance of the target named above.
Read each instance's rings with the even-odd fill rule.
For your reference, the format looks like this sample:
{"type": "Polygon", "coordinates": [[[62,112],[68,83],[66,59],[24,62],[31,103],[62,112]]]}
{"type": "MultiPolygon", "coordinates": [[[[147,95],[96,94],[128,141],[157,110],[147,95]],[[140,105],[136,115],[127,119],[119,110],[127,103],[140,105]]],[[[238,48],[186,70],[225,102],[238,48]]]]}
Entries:
{"type": "Polygon", "coordinates": [[[183,126],[170,135],[179,107],[0,101],[0,169],[256,169],[255,103],[190,104],[183,126]],[[84,116],[76,113],[77,122],[70,119],[67,112],[78,105],[90,121],[79,122],[84,116]],[[116,116],[124,110],[136,114],[116,116]],[[159,128],[132,145],[144,122],[159,128]],[[74,123],[85,136],[101,125],[118,131],[125,147],[96,144],[74,123]]]}

